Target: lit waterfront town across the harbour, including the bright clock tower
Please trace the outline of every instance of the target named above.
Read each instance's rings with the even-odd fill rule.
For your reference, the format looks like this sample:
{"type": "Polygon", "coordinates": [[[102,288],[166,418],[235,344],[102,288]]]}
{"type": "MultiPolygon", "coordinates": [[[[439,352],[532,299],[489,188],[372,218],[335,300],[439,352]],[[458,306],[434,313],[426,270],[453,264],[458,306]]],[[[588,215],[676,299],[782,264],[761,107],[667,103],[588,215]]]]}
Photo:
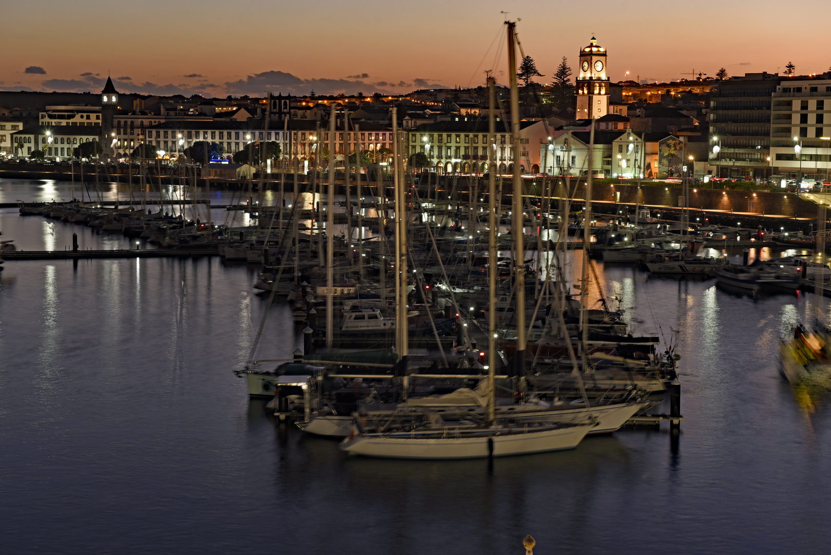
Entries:
{"type": "MultiPolygon", "coordinates": [[[[525,173],[664,178],[682,171],[683,156],[696,176],[829,181],[831,74],[615,83],[608,78],[611,58],[592,37],[578,52],[565,97],[562,87],[521,87],[519,160],[504,122],[508,92],[499,87],[505,102],[497,108],[494,169],[511,171],[519,163],[525,173]],[[596,151],[588,168],[592,126],[596,151]],[[667,145],[681,153],[674,163],[660,155],[667,145]]],[[[440,173],[491,170],[484,87],[222,99],[125,94],[108,79],[98,94],[0,92],[0,155],[177,161],[201,145],[206,152],[210,147],[214,161],[228,161],[267,142],[274,145],[273,167],[296,163],[306,171],[318,146],[328,146],[335,117],[339,163],[359,147],[376,163],[391,155],[393,106],[412,166],[440,173]],[[92,142],[97,146],[86,145],[92,142]]]]}

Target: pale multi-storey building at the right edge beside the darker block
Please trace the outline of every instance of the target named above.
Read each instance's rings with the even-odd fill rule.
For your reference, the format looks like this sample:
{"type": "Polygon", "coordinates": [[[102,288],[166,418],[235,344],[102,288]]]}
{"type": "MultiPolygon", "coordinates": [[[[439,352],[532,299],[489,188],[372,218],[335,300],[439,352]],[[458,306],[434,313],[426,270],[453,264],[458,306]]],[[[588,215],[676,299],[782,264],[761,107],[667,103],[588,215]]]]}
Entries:
{"type": "Polygon", "coordinates": [[[829,181],[831,79],[788,79],[773,93],[770,166],[786,179],[829,181]]]}

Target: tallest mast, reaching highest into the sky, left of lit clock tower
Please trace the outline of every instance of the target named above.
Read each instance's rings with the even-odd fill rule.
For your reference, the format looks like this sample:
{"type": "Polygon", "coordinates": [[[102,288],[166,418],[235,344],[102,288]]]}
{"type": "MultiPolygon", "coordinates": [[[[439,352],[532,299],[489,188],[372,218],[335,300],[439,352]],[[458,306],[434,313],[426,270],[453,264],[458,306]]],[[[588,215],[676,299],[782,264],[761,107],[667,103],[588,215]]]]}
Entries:
{"type": "Polygon", "coordinates": [[[519,88],[517,87],[517,57],[516,57],[516,23],[505,22],[508,25],[508,74],[511,86],[511,138],[514,149],[514,192],[511,216],[512,235],[514,235],[514,271],[516,272],[516,314],[517,350],[514,357],[515,375],[525,372],[525,275],[524,275],[524,218],[522,206],[522,174],[519,170],[519,88]]]}

